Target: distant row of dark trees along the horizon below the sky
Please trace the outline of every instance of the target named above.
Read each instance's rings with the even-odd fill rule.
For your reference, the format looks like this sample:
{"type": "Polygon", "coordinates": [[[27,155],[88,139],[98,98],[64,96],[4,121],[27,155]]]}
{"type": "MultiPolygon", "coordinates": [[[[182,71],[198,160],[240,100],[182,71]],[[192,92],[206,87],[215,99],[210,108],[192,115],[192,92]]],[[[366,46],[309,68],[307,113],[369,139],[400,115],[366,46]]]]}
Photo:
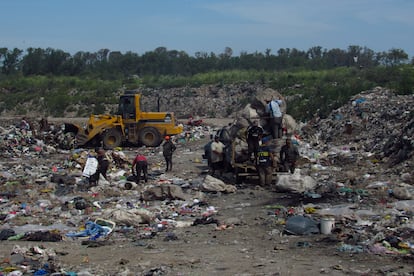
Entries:
{"type": "Polygon", "coordinates": [[[0,48],[0,76],[88,76],[105,80],[127,76],[193,76],[200,73],[225,70],[326,70],[337,67],[372,68],[379,65],[396,66],[414,63],[402,49],[374,52],[360,46],[348,49],[312,47],[307,51],[295,48],[279,49],[272,53],[242,52],[236,56],[226,47],[223,53],[197,52],[194,56],[184,51],[156,48],[142,55],[109,49],[98,52],[77,52],[74,55],[59,49],[0,48]]]}

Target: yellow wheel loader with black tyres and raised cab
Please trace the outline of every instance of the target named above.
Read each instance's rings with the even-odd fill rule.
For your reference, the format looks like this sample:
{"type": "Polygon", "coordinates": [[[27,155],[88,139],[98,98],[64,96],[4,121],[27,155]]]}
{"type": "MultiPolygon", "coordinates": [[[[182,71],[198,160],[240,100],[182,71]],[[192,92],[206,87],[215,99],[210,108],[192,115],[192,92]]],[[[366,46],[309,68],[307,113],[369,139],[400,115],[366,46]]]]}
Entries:
{"type": "MultiPolygon", "coordinates": [[[[182,133],[172,112],[141,111],[141,94],[127,91],[120,96],[116,115],[91,115],[87,126],[65,124],[67,137],[75,139],[75,147],[103,146],[113,149],[125,143],[147,147],[161,144],[163,137],[182,133]]],[[[68,143],[73,144],[73,143],[68,143]]]]}

